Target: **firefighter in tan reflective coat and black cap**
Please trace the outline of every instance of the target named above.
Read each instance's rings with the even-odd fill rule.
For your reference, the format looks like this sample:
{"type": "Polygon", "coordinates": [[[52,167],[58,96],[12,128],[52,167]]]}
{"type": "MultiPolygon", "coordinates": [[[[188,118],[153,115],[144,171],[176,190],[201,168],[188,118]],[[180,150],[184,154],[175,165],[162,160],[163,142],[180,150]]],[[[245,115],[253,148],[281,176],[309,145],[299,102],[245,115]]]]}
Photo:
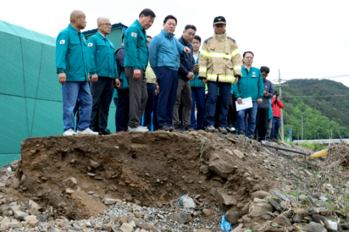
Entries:
{"type": "Polygon", "coordinates": [[[206,39],[199,58],[199,79],[207,82],[206,98],[206,131],[216,132],[215,109],[217,94],[221,99],[218,131],[227,134],[227,116],[229,110],[229,93],[235,77],[241,77],[242,58],[234,39],[227,36],[226,19],[223,16],[214,18],[213,37],[206,39]]]}

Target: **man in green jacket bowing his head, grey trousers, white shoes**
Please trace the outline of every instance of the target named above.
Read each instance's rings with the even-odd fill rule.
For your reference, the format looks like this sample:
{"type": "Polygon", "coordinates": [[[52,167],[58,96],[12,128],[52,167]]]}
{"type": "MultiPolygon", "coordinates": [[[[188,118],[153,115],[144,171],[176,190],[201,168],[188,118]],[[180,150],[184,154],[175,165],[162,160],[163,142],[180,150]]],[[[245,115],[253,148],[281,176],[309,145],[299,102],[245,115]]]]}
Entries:
{"type": "Polygon", "coordinates": [[[148,48],[145,30],[154,22],[155,14],[150,9],[144,9],[125,32],[124,70],[130,87],[130,121],[127,131],[148,132],[141,126],[142,116],[148,98],[146,90],[145,69],[148,64],[148,48]]]}

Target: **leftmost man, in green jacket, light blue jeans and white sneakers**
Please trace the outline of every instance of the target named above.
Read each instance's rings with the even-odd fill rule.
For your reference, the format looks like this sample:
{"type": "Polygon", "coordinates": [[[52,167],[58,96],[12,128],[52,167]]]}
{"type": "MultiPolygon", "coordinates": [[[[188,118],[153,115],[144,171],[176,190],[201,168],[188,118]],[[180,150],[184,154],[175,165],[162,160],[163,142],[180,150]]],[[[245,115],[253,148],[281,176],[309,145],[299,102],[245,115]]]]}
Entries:
{"type": "Polygon", "coordinates": [[[86,15],[81,10],[70,14],[70,24],[59,32],[56,40],[56,67],[58,81],[62,84],[63,122],[65,136],[74,132],[74,108],[79,102],[79,123],[77,133],[98,135],[89,127],[92,98],[87,75],[87,40],[81,29],[86,27],[86,15]]]}

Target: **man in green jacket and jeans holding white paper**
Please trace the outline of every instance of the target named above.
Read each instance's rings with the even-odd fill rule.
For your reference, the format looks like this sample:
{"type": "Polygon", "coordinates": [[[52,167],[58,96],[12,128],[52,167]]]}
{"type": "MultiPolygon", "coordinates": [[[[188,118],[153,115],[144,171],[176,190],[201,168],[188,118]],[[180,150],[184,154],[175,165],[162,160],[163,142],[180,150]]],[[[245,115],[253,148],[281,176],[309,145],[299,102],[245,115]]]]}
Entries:
{"type": "Polygon", "coordinates": [[[251,97],[252,107],[237,112],[236,130],[238,135],[244,135],[246,133],[248,138],[254,139],[257,108],[258,105],[263,102],[263,78],[260,69],[252,67],[254,58],[252,52],[245,52],[242,58],[244,61],[244,66],[241,69],[242,75],[238,82],[233,85],[233,93],[239,105],[243,104],[243,102],[245,102],[245,104],[248,103],[248,99],[245,98],[251,97]],[[244,101],[242,99],[244,99],[244,101]],[[248,113],[248,128],[245,129],[246,111],[248,113]]]}

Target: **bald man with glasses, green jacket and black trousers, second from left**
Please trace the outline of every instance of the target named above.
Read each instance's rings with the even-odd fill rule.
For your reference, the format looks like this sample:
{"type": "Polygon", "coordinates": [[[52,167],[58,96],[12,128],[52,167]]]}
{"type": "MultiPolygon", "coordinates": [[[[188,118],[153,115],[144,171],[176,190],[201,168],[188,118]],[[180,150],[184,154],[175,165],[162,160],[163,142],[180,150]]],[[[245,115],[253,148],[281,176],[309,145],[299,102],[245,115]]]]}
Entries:
{"type": "Polygon", "coordinates": [[[99,134],[113,134],[107,129],[109,106],[113,99],[114,85],[120,85],[116,69],[115,47],[107,38],[112,24],[107,18],[97,19],[98,32],[88,38],[88,72],[91,75],[92,114],[90,129],[99,120],[99,134]],[[98,117],[99,115],[99,117],[98,117]],[[98,119],[99,118],[99,119],[98,119]]]}

